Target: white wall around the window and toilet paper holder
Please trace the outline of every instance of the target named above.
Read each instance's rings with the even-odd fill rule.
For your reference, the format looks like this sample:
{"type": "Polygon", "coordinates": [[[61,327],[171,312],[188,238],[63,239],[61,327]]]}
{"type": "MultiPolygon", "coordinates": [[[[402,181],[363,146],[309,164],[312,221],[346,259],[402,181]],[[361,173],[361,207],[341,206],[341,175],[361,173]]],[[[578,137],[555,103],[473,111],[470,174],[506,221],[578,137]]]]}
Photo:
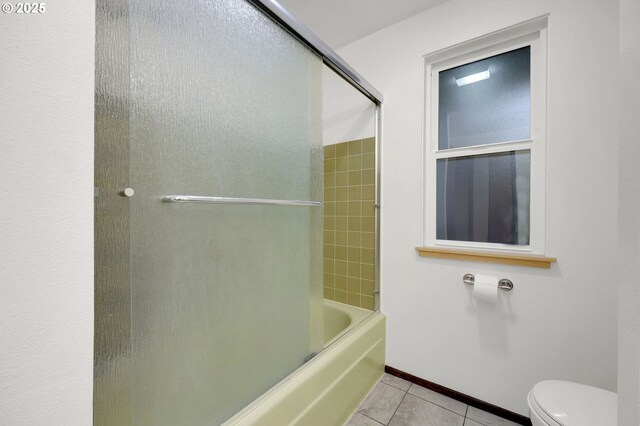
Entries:
{"type": "MultiPolygon", "coordinates": [[[[544,379],[616,389],[617,2],[452,0],[339,50],[385,96],[382,310],[387,364],[527,415],[544,379]],[[419,258],[422,56],[550,13],[551,270],[419,258]],[[477,306],[464,273],[515,289],[477,306]]],[[[430,184],[430,183],[428,183],[430,184]]]]}

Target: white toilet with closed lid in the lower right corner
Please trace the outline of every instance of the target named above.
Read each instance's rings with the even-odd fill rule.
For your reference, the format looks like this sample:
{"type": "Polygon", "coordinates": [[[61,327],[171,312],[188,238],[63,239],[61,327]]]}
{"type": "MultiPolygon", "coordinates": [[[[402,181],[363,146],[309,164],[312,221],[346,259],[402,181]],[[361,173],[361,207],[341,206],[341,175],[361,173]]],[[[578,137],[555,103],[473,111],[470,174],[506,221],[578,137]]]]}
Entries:
{"type": "Polygon", "coordinates": [[[616,426],[618,396],[579,383],[546,380],[527,397],[533,426],[616,426]]]}

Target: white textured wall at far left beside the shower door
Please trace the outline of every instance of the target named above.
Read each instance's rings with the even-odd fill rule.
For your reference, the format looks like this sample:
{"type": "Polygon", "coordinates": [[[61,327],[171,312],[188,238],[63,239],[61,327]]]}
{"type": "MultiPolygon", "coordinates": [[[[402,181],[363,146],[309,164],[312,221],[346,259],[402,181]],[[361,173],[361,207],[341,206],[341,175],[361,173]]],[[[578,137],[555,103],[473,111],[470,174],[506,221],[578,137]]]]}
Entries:
{"type": "Polygon", "coordinates": [[[94,5],[46,6],[0,14],[3,425],[92,423],[94,5]]]}

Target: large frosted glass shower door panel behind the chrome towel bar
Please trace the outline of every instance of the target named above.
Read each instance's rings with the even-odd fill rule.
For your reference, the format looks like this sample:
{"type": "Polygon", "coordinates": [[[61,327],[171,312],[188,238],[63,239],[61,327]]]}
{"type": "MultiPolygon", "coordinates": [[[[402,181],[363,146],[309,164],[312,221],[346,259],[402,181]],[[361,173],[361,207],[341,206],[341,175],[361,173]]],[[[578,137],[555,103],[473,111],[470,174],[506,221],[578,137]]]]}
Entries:
{"type": "Polygon", "coordinates": [[[129,3],[132,423],[219,424],[321,350],[321,60],[244,0],[129,3]]]}

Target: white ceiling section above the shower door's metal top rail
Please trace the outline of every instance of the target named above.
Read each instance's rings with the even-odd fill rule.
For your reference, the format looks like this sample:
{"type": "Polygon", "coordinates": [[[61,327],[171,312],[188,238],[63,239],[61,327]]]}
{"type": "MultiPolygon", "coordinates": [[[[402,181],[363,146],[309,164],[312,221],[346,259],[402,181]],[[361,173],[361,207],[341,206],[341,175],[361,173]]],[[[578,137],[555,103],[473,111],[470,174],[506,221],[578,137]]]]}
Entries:
{"type": "Polygon", "coordinates": [[[277,0],[332,49],[447,0],[277,0]]]}

